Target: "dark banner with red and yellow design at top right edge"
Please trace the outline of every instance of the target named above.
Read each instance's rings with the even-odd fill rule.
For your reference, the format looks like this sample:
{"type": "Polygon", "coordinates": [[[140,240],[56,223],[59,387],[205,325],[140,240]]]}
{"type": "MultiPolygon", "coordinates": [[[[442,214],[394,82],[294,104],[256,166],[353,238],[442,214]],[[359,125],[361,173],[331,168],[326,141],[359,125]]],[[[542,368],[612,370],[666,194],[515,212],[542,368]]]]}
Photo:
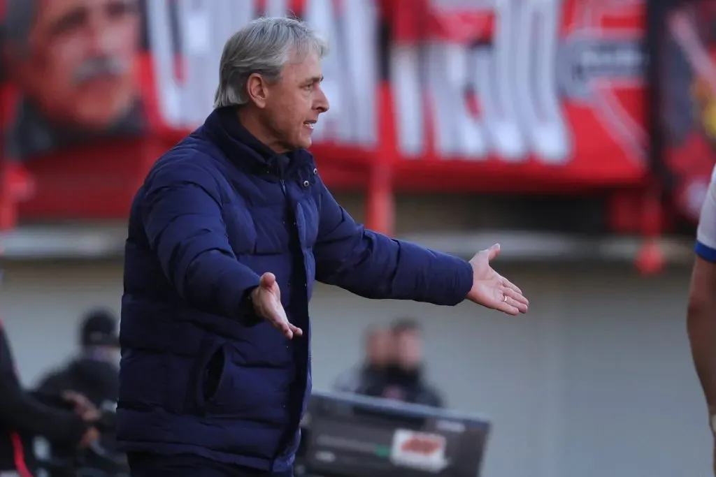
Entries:
{"type": "Polygon", "coordinates": [[[652,167],[693,223],[716,161],[716,2],[648,5],[652,167]]]}

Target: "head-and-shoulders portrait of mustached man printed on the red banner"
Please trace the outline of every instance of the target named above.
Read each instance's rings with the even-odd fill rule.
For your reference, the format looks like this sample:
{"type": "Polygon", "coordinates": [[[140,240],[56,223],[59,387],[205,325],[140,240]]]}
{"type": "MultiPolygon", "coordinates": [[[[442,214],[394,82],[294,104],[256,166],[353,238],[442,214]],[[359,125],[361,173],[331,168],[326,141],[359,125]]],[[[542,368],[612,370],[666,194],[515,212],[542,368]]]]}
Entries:
{"type": "Polygon", "coordinates": [[[138,0],[4,2],[2,66],[20,94],[7,136],[12,157],[145,128],[138,0]]]}

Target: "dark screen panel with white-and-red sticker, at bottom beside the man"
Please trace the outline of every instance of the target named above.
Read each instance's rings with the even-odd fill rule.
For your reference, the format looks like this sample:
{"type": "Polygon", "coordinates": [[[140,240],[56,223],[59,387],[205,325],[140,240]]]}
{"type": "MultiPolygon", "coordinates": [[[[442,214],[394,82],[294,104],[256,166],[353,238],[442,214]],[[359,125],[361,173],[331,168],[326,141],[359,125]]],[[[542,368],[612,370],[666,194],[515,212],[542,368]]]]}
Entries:
{"type": "Polygon", "coordinates": [[[333,477],[474,477],[490,423],[483,418],[372,398],[314,395],[304,463],[333,477]]]}

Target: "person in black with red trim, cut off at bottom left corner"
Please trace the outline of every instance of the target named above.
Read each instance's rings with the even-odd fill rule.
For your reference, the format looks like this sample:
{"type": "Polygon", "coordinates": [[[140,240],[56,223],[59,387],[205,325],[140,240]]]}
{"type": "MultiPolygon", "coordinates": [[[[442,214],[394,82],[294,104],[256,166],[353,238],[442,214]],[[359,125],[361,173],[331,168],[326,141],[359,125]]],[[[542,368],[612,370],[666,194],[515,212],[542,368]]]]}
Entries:
{"type": "Polygon", "coordinates": [[[92,403],[77,393],[24,390],[0,323],[0,475],[32,477],[33,440],[38,436],[72,448],[89,446],[99,438],[92,424],[98,417],[92,403]]]}

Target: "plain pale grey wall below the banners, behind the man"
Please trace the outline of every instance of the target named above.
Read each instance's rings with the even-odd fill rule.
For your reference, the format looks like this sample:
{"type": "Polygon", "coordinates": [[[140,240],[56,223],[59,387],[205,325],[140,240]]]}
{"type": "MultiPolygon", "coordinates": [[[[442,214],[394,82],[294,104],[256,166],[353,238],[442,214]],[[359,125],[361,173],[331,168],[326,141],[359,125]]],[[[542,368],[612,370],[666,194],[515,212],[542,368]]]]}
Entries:
{"type": "MultiPolygon", "coordinates": [[[[314,297],[314,382],[361,354],[362,331],[411,315],[425,325],[430,379],[453,408],[493,418],[485,477],[706,476],[711,438],[684,328],[687,271],[502,270],[531,298],[526,318],[314,297]]],[[[117,310],[120,262],[9,263],[0,311],[26,383],[72,352],[79,315],[117,310]]]]}

